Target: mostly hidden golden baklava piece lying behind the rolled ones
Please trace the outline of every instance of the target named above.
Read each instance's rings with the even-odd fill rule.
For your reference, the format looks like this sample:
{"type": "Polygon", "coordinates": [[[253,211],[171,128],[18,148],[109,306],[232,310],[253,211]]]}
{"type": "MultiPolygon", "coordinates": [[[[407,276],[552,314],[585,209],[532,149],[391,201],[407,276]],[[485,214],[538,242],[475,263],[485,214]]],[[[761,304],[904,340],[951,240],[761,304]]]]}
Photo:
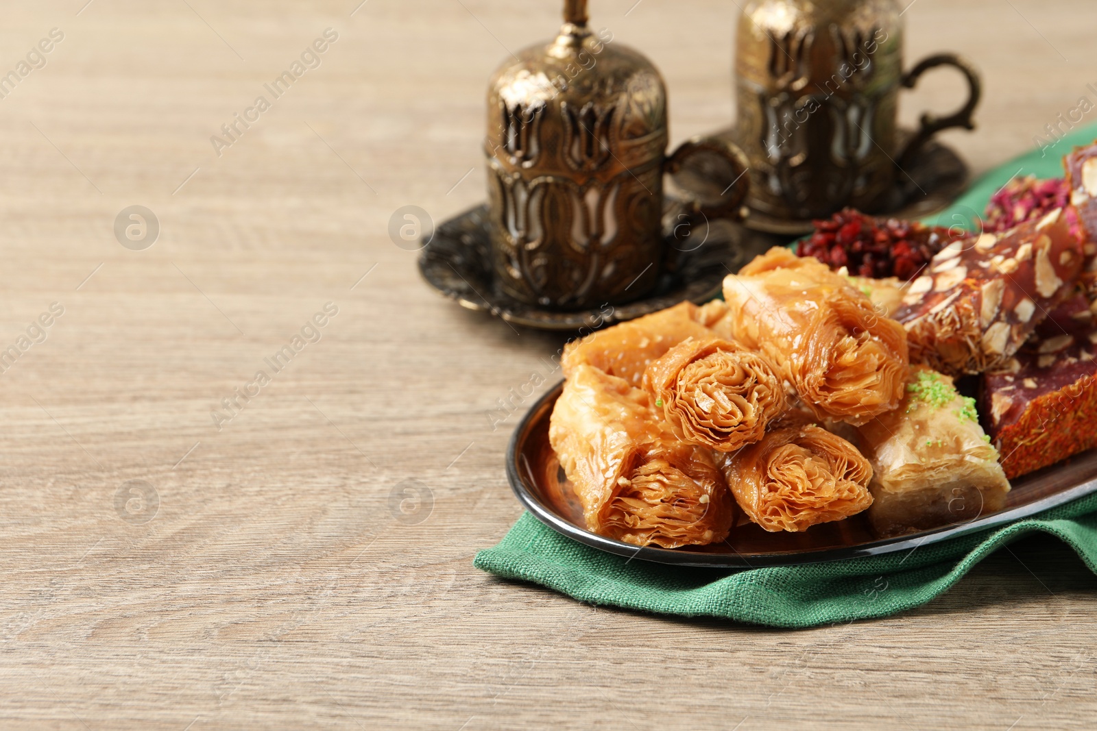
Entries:
{"type": "Polygon", "coordinates": [[[725,310],[722,302],[710,302],[703,308],[692,302],[681,302],[590,333],[564,346],[561,358],[564,376],[570,376],[578,366],[586,364],[611,376],[624,378],[632,386],[640,386],[644,370],[652,361],[661,357],[687,338],[711,334],[702,322],[715,319],[725,310]]]}

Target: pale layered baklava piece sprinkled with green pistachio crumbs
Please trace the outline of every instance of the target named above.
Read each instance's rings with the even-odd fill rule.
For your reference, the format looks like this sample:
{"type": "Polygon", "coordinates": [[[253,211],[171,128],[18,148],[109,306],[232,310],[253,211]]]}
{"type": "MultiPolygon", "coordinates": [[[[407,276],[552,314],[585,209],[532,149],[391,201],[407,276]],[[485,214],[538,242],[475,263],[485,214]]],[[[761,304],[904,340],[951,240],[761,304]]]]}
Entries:
{"type": "Polygon", "coordinates": [[[903,403],[858,427],[858,442],[872,465],[869,521],[880,536],[1005,507],[1009,481],[979,424],[975,400],[960,396],[943,374],[912,366],[903,403]]]}

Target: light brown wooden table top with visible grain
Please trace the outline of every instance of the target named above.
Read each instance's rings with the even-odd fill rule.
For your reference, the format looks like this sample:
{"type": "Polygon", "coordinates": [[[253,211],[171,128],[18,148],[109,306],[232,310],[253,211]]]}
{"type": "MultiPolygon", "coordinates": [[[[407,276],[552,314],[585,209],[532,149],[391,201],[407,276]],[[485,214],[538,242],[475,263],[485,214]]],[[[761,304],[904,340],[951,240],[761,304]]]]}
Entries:
{"type": "MultiPolygon", "coordinates": [[[[0,377],[0,727],[1092,728],[1097,580],[1051,539],[923,609],[796,632],[475,570],[521,513],[514,420],[489,414],[562,340],[436,296],[387,227],[484,197],[487,78],[554,32],[559,2],[358,1],[4,8],[0,71],[49,53],[0,99],[0,350],[18,355],[0,377]],[[319,66],[264,91],[316,39],[319,66]],[[228,137],[235,114],[252,122],[228,137]],[[129,248],[115,236],[135,205],[151,247],[126,216],[129,248]]],[[[665,72],[674,142],[727,125],[734,0],[592,11],[665,72]]],[[[980,130],[947,135],[976,170],[1094,98],[1095,14],[909,8],[909,59],[959,49],[983,69],[980,130]]],[[[908,123],[960,94],[925,81],[908,123]]]]}

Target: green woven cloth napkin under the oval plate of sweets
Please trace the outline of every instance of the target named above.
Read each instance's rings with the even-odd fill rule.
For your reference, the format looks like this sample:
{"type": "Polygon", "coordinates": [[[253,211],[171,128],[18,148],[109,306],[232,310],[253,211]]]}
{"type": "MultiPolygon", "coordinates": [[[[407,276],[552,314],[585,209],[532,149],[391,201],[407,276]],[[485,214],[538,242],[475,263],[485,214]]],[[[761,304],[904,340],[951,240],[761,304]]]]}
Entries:
{"type": "MultiPolygon", "coordinates": [[[[1097,125],[1036,149],[981,178],[943,214],[963,224],[1014,175],[1062,175],[1062,156],[1097,137],[1097,125]]],[[[938,596],[976,562],[1042,530],[1074,548],[1097,573],[1097,494],[1006,527],[889,556],[799,567],[723,571],[629,560],[566,538],[525,513],[475,564],[507,579],[542,584],[592,604],[689,617],[724,617],[772,627],[814,627],[909,609],[938,596]]]]}

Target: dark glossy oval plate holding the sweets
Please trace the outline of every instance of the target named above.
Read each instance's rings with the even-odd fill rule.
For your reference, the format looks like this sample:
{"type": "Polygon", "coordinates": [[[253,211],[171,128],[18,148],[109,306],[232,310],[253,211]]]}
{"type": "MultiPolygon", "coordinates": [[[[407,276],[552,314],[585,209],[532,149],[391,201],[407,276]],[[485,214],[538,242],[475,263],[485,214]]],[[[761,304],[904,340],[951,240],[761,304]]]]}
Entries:
{"type": "Polygon", "coordinates": [[[507,449],[507,478],[518,500],[548,527],[610,553],[656,563],[759,569],[912,551],[949,538],[995,528],[1097,492],[1097,450],[1087,452],[1011,482],[1006,507],[962,524],[896,538],[877,538],[863,515],[816,525],[804,533],[767,533],[739,525],[712,546],[640,548],[590,533],[570,483],[548,445],[548,416],[563,381],[541,398],[518,425],[507,449]]]}

